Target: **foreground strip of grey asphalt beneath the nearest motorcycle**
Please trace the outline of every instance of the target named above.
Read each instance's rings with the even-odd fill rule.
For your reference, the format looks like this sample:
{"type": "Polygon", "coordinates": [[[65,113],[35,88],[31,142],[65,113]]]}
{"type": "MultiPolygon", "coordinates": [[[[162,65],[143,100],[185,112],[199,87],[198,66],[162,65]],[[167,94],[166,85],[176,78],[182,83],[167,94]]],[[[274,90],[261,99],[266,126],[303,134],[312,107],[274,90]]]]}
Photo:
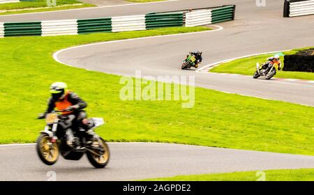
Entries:
{"type": "Polygon", "coordinates": [[[264,153],[168,143],[109,143],[112,158],[105,169],[94,169],[84,156],[80,161],[59,158],[46,166],[35,145],[0,146],[0,180],[140,180],[144,178],[314,167],[314,156],[264,153]],[[10,162],[10,163],[8,163],[10,162]]]}

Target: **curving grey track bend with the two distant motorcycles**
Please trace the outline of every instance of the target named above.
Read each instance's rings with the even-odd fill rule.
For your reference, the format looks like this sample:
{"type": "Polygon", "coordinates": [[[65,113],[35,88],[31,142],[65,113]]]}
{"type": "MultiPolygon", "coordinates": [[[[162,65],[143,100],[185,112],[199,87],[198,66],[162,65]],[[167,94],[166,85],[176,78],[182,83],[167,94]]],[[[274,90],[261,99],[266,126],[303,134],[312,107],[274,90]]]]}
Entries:
{"type": "Polygon", "coordinates": [[[256,80],[179,69],[181,59],[190,50],[201,49],[203,64],[208,64],[313,44],[314,36],[309,33],[314,31],[313,15],[283,18],[281,1],[267,1],[266,8],[250,2],[236,3],[237,20],[220,24],[222,31],[103,42],[65,49],[54,57],[68,65],[117,75],[135,76],[135,70],[154,77],[193,75],[196,86],[314,106],[314,98],[309,98],[314,97],[313,83],[256,80]],[[274,24],[276,30],[270,27],[274,24]]]}

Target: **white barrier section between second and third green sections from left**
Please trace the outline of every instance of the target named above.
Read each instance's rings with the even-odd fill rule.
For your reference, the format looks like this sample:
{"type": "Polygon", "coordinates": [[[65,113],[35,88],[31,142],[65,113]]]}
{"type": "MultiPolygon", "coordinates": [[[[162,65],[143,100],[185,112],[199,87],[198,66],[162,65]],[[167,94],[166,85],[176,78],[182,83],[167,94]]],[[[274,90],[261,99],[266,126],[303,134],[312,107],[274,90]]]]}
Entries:
{"type": "Polygon", "coordinates": [[[146,30],[145,15],[112,17],[112,32],[146,30]]]}

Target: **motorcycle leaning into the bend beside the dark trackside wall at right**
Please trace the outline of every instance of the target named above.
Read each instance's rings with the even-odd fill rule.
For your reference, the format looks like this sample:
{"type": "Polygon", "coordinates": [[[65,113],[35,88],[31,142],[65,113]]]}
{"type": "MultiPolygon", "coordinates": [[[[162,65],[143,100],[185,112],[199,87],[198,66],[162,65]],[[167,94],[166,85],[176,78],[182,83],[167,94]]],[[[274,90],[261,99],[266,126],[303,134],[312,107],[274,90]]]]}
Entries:
{"type": "Polygon", "coordinates": [[[253,75],[254,79],[258,77],[264,77],[264,79],[271,79],[274,77],[278,71],[279,65],[278,63],[271,63],[271,61],[267,63],[262,63],[256,65],[256,72],[253,75]]]}

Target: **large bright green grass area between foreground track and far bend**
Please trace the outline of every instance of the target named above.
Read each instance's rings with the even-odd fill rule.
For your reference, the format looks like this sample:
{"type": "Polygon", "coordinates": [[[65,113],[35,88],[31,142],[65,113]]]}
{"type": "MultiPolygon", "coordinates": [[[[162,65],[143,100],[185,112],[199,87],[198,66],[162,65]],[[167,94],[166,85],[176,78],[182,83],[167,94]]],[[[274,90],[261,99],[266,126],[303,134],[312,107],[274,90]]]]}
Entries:
{"type": "Polygon", "coordinates": [[[64,81],[88,102],[89,116],[107,120],[97,132],[108,141],[158,141],[314,155],[313,107],[204,88],[195,88],[192,109],[182,109],[183,101],[122,101],[121,77],[69,67],[52,59],[54,52],[73,45],[206,29],[0,39],[0,143],[34,142],[45,125],[35,118],[46,108],[48,88],[54,81],[64,81]]]}

